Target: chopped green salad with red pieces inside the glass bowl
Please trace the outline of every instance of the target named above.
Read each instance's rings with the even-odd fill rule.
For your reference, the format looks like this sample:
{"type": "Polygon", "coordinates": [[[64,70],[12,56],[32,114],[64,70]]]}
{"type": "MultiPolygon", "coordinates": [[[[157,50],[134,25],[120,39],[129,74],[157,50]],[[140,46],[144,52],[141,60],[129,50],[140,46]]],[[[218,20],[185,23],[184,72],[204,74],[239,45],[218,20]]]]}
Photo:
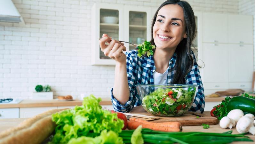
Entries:
{"type": "Polygon", "coordinates": [[[180,116],[188,111],[196,88],[158,88],[142,99],[143,107],[153,115],[180,116]]]}

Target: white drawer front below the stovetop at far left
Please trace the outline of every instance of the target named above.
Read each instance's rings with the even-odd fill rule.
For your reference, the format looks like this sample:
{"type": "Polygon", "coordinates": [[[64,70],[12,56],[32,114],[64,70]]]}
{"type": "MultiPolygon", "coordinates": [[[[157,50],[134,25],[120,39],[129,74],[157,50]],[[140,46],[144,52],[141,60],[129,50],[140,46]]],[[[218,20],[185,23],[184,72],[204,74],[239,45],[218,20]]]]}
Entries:
{"type": "Polygon", "coordinates": [[[0,108],[0,118],[19,118],[19,108],[0,108]]]}

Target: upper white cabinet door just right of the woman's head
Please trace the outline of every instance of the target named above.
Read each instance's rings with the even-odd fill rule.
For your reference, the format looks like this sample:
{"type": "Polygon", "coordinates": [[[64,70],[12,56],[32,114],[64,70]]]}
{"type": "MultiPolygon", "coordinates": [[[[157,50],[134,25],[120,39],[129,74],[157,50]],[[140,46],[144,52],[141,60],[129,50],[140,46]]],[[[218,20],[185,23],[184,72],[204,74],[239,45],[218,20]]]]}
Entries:
{"type": "Polygon", "coordinates": [[[228,15],[220,13],[203,13],[203,42],[228,42],[228,15]]]}

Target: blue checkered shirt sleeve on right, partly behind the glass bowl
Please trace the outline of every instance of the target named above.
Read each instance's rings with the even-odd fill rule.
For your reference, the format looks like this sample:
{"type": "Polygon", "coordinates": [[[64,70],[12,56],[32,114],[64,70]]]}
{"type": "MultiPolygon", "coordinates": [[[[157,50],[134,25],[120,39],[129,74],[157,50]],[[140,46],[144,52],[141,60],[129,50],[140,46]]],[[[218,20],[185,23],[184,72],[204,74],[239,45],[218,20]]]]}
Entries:
{"type": "Polygon", "coordinates": [[[192,104],[192,107],[189,111],[195,111],[197,113],[204,112],[204,87],[201,80],[200,72],[198,69],[198,65],[196,63],[196,58],[194,53],[192,52],[192,56],[194,59],[194,65],[188,75],[185,77],[186,84],[197,84],[198,89],[196,92],[195,100],[192,104]]]}

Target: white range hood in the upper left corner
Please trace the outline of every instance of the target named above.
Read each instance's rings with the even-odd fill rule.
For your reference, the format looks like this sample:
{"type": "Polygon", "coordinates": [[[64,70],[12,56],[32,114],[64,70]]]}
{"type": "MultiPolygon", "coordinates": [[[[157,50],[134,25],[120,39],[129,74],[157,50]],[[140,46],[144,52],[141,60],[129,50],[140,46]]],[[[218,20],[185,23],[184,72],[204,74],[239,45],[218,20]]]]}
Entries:
{"type": "Polygon", "coordinates": [[[0,22],[24,23],[12,0],[0,1],[0,22]]]}

